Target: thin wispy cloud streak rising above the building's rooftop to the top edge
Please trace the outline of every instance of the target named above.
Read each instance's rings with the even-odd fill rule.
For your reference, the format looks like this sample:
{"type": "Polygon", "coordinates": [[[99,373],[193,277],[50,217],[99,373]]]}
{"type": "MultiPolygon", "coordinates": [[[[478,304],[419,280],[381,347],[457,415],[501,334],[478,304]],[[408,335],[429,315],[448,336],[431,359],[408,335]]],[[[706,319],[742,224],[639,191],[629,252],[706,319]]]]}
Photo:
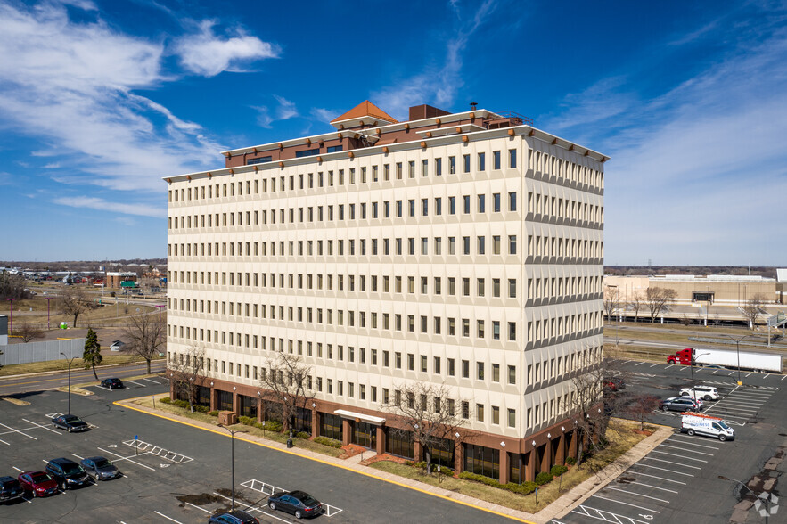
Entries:
{"type": "Polygon", "coordinates": [[[496,0],[486,0],[471,12],[465,21],[464,10],[458,1],[450,1],[457,21],[451,37],[445,42],[445,55],[440,67],[427,66],[421,73],[404,78],[396,85],[373,93],[372,98],[382,108],[398,118],[404,119],[407,109],[419,103],[434,103],[450,107],[456,93],[464,85],[462,79],[462,55],[471,37],[488,20],[497,6],[496,0]]]}

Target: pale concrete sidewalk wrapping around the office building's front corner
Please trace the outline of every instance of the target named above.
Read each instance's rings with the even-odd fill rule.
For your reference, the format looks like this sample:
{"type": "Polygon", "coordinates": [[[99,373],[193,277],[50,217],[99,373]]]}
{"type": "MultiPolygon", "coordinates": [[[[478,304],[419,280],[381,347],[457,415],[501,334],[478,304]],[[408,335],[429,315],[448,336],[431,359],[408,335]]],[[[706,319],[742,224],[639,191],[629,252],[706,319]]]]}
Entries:
{"type": "MultiPolygon", "coordinates": [[[[165,393],[165,394],[161,394],[159,397],[166,397],[166,396],[167,394],[165,393]]],[[[212,424],[194,421],[193,419],[189,419],[176,414],[163,413],[160,412],[159,410],[153,410],[152,408],[145,407],[143,405],[136,405],[133,403],[133,400],[134,400],[133,398],[128,400],[120,400],[118,402],[115,402],[114,404],[122,405],[123,407],[126,407],[128,409],[133,409],[135,411],[139,411],[143,413],[149,413],[154,416],[158,416],[160,418],[168,419],[174,422],[184,423],[194,428],[209,430],[214,433],[217,433],[218,435],[225,435],[226,437],[229,437],[229,435],[227,435],[224,431],[221,431],[220,429],[218,429],[216,426],[212,424]]],[[[645,438],[644,440],[639,442],[637,445],[629,449],[627,453],[621,455],[617,461],[611,463],[602,471],[596,473],[593,477],[586,479],[582,484],[572,488],[568,493],[566,493],[566,495],[563,495],[561,498],[554,501],[553,504],[550,504],[549,506],[545,507],[545,509],[541,510],[540,512],[537,512],[537,514],[520,512],[517,510],[513,510],[511,508],[506,508],[498,504],[488,503],[486,501],[473,498],[468,495],[461,495],[453,491],[448,491],[447,489],[430,486],[429,484],[424,484],[414,479],[406,479],[404,477],[399,477],[397,475],[393,475],[386,471],[380,471],[374,468],[370,468],[360,463],[361,462],[360,454],[353,455],[352,457],[343,460],[340,458],[319,454],[298,447],[293,447],[288,449],[285,444],[280,444],[275,441],[259,438],[254,435],[244,434],[242,437],[236,436],[235,438],[245,440],[247,442],[250,442],[251,444],[257,444],[258,446],[264,446],[271,449],[276,449],[283,453],[296,454],[304,458],[314,460],[316,462],[331,464],[335,467],[339,467],[344,470],[356,471],[357,473],[361,475],[365,475],[367,477],[381,479],[386,482],[390,482],[391,484],[396,484],[398,486],[414,489],[416,491],[427,493],[429,495],[439,496],[440,498],[451,500],[458,504],[464,504],[474,508],[479,508],[487,512],[492,512],[498,515],[509,517],[513,520],[519,520],[521,522],[529,522],[531,524],[532,523],[545,524],[546,522],[548,522],[553,518],[562,517],[562,515],[565,515],[568,512],[570,512],[570,510],[573,507],[575,507],[577,504],[580,504],[590,495],[593,495],[596,491],[598,491],[599,489],[604,487],[607,483],[609,483],[612,479],[617,477],[621,471],[626,470],[627,467],[629,467],[631,464],[635,463],[636,461],[640,460],[645,454],[648,454],[654,447],[658,446],[663,440],[665,440],[670,435],[672,435],[672,431],[673,431],[672,428],[660,426],[659,430],[653,433],[652,436],[645,438]]]]}

